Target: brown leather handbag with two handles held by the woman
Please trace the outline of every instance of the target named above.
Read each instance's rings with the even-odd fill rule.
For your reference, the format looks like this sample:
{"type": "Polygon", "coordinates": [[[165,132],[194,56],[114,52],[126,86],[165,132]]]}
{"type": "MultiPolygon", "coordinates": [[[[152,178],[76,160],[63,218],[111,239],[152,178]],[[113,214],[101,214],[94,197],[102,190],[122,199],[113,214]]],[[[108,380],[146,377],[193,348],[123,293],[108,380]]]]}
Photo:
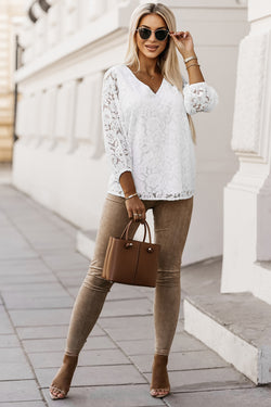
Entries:
{"type": "Polygon", "coordinates": [[[109,237],[102,277],[122,284],[155,287],[160,245],[152,243],[146,220],[143,241],[129,239],[132,221],[126,225],[120,238],[109,237]],[[146,229],[150,243],[145,242],[146,229]]]}

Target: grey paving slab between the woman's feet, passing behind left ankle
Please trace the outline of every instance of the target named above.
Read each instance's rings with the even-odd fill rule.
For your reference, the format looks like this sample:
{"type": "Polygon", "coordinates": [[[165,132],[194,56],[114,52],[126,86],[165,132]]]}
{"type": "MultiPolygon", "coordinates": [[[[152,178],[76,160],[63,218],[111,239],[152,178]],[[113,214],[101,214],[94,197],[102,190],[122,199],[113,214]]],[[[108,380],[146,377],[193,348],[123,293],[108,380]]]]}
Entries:
{"type": "MultiPolygon", "coordinates": [[[[38,381],[48,387],[57,369],[36,369],[38,381]]],[[[132,365],[78,366],[73,378],[73,386],[142,384],[146,380],[132,365]]]]}

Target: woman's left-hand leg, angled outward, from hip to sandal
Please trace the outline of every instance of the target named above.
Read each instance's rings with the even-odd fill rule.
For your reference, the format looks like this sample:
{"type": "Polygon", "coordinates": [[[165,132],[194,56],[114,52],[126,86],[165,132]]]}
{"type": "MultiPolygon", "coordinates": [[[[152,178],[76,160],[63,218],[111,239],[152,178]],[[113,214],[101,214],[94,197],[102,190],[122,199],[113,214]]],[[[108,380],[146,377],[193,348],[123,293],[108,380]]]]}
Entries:
{"type": "MultiPolygon", "coordinates": [[[[120,236],[128,220],[125,199],[107,194],[96,236],[94,255],[73,307],[63,365],[51,385],[56,387],[51,392],[55,398],[64,398],[68,392],[78,355],[95,325],[112,287],[109,281],[101,277],[109,236],[120,236]]],[[[131,236],[134,234],[138,227],[139,224],[131,225],[131,236]]]]}

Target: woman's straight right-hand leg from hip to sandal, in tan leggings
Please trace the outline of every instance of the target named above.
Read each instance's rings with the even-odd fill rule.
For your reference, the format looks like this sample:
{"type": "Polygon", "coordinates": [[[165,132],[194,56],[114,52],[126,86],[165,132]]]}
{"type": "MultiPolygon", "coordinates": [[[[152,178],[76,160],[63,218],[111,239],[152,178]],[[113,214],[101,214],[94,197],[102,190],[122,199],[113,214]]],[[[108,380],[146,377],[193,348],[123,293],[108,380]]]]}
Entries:
{"type": "Polygon", "coordinates": [[[156,243],[162,245],[155,289],[155,358],[151,393],[163,396],[169,392],[167,361],[179,317],[181,287],[180,267],[193,209],[188,200],[160,201],[154,207],[156,243]],[[164,389],[157,392],[155,389],[164,389]]]}

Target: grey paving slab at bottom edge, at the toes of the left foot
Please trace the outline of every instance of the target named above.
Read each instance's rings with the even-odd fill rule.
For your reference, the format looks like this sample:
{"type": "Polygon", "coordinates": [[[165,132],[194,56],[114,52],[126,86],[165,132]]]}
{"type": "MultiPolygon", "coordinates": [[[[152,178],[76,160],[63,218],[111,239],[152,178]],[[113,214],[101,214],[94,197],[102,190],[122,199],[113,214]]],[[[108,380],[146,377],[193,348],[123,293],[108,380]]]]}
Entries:
{"type": "MultiPolygon", "coordinates": [[[[49,406],[55,406],[49,392],[42,390],[49,406]]],[[[165,404],[150,396],[149,385],[114,385],[96,387],[70,387],[68,396],[57,400],[57,406],[65,407],[160,407],[165,404]]],[[[178,406],[179,407],[179,406],[178,406]]]]}

